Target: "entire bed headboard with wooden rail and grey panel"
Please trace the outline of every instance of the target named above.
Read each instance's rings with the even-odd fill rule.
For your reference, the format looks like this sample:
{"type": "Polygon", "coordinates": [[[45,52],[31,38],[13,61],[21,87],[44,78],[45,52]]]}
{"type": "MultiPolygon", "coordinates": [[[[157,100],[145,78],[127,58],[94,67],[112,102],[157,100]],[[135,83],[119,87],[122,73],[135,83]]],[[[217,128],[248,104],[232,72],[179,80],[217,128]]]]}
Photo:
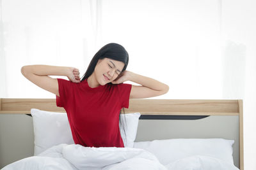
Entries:
{"type": "MultiPolygon", "coordinates": [[[[0,98],[0,168],[18,160],[4,159],[8,154],[10,157],[10,150],[7,151],[4,148],[10,146],[10,141],[13,141],[13,139],[10,141],[6,139],[12,135],[12,130],[8,131],[11,126],[15,126],[16,131],[25,128],[26,134],[31,134],[27,144],[31,150],[29,153],[23,153],[23,158],[33,156],[33,120],[28,117],[31,108],[65,112],[64,108],[56,106],[56,99],[0,98]],[[27,122],[22,123],[22,118],[27,122]],[[14,124],[14,120],[19,124],[14,124]]],[[[241,99],[130,99],[129,109],[124,108],[122,113],[134,112],[141,113],[135,142],[174,138],[234,139],[234,164],[240,170],[244,170],[243,101],[241,99]]],[[[22,138],[22,136],[18,137],[22,138]]],[[[16,143],[22,141],[20,138],[17,138],[16,143]]],[[[23,145],[25,146],[26,143],[23,145]]],[[[13,152],[19,151],[13,150],[13,152]]],[[[12,154],[15,155],[15,153],[12,154]]]]}

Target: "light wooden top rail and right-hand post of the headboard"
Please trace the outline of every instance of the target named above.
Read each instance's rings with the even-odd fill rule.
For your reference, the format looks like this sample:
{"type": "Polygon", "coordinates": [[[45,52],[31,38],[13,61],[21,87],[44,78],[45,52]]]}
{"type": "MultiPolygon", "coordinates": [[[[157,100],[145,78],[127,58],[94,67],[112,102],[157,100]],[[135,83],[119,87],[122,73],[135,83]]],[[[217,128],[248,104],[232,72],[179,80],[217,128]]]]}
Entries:
{"type": "MultiPolygon", "coordinates": [[[[0,114],[30,114],[31,108],[65,112],[56,106],[56,99],[0,99],[0,114]]],[[[140,112],[145,119],[168,116],[236,116],[239,118],[239,169],[244,169],[243,156],[243,101],[208,99],[130,99],[125,113],[140,112]]],[[[172,118],[170,118],[172,119],[172,118]]]]}

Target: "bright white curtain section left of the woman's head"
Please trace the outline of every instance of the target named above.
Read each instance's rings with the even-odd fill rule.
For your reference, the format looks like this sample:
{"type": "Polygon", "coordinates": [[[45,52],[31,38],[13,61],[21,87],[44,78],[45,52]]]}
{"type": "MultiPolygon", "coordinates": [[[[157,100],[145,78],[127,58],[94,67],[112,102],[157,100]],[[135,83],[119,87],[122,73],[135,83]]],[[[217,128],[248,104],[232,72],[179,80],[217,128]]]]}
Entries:
{"type": "Polygon", "coordinates": [[[2,0],[1,97],[54,97],[24,79],[20,68],[25,65],[85,72],[99,43],[100,5],[93,0],[2,0]]]}

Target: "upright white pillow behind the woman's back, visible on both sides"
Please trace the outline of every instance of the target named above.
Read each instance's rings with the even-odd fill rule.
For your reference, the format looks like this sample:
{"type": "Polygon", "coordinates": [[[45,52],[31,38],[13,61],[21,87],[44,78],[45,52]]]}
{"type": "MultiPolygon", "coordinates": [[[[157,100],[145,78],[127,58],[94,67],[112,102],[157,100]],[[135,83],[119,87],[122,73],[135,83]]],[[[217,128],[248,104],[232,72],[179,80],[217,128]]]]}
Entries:
{"type": "MultiPolygon", "coordinates": [[[[38,155],[39,153],[47,150],[47,148],[51,148],[52,146],[59,145],[61,143],[66,143],[68,145],[74,144],[67,113],[43,111],[32,108],[31,115],[33,117],[35,134],[34,155],[38,155]]],[[[120,127],[120,133],[125,147],[133,146],[136,138],[139,117],[140,113],[127,114],[126,123],[127,127],[129,127],[125,127],[127,141],[125,141],[124,138],[123,128],[120,127]]],[[[120,119],[122,118],[124,118],[124,114],[121,114],[120,119]]]]}

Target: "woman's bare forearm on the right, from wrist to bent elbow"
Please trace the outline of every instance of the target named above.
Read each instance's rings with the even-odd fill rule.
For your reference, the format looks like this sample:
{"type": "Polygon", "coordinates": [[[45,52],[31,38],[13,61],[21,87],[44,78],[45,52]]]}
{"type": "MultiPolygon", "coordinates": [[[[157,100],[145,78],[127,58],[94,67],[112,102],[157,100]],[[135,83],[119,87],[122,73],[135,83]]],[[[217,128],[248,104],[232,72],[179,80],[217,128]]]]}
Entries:
{"type": "Polygon", "coordinates": [[[154,80],[153,78],[149,78],[147,76],[141,76],[140,74],[132,73],[129,71],[129,81],[133,81],[145,87],[148,87],[153,90],[158,91],[168,91],[169,86],[161,83],[160,81],[154,80]]]}

